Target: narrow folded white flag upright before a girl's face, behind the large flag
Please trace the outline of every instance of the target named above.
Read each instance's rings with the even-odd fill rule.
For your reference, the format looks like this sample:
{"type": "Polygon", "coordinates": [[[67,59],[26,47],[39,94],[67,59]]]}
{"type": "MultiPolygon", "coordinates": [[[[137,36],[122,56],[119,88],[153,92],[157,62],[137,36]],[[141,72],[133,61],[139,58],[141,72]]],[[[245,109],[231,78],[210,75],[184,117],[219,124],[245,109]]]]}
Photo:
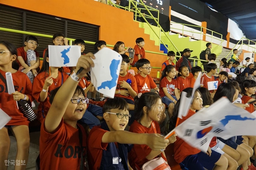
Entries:
{"type": "Polygon", "coordinates": [[[184,117],[187,116],[187,112],[189,111],[189,107],[190,107],[190,104],[192,102],[192,98],[194,96],[195,90],[197,90],[197,88],[200,87],[200,80],[201,80],[201,72],[199,72],[198,78],[195,81],[193,91],[192,91],[192,95],[190,97],[187,97],[186,92],[181,92],[180,107],[179,107],[179,111],[178,111],[178,117],[180,119],[182,119],[182,116],[184,116],[184,117]]]}

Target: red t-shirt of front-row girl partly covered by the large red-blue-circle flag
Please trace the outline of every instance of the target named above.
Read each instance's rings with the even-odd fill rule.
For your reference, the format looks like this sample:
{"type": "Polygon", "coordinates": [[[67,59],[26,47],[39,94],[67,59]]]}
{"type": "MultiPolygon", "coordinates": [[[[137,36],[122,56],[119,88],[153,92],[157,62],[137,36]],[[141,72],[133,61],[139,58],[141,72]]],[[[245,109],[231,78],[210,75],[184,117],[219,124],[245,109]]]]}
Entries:
{"type": "MultiPolygon", "coordinates": [[[[180,125],[182,122],[187,120],[190,116],[195,114],[195,111],[189,110],[186,117],[182,117],[182,119],[179,120],[178,125],[180,125]]],[[[199,152],[201,152],[199,149],[196,149],[189,144],[187,144],[184,140],[176,137],[176,141],[174,142],[174,159],[177,163],[182,162],[187,156],[189,155],[195,155],[199,152]]]]}

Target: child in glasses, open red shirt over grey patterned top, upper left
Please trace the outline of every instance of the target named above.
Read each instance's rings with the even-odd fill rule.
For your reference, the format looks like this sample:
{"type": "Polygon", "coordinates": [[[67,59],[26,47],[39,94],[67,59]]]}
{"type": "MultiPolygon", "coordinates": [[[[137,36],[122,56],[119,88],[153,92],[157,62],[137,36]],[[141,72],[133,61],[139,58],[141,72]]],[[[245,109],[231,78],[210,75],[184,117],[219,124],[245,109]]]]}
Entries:
{"type": "Polygon", "coordinates": [[[17,63],[20,66],[19,71],[25,73],[33,83],[37,69],[40,67],[39,53],[35,51],[38,47],[38,40],[35,36],[28,35],[24,44],[24,47],[17,48],[17,63]]]}

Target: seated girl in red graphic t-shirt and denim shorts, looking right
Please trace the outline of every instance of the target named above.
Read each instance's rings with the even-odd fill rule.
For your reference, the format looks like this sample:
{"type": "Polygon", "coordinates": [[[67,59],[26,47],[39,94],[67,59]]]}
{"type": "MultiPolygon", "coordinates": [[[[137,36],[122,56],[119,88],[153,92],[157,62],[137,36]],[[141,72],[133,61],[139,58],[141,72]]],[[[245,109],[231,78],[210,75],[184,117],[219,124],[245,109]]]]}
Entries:
{"type": "Polygon", "coordinates": [[[159,95],[162,98],[162,102],[168,105],[169,117],[172,117],[174,104],[176,104],[178,99],[180,99],[180,94],[176,86],[176,80],[174,79],[175,75],[175,67],[168,65],[163,70],[163,74],[159,83],[159,95]]]}

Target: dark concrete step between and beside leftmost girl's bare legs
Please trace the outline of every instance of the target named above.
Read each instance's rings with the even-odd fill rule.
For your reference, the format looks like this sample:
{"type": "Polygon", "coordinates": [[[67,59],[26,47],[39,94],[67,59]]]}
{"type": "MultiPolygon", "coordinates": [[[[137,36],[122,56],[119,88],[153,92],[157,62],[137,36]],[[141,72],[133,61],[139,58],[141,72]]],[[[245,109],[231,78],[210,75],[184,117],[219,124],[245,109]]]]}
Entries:
{"type": "MultiPolygon", "coordinates": [[[[29,160],[27,162],[26,170],[35,170],[35,161],[39,155],[39,137],[40,132],[32,132],[30,136],[30,146],[29,146],[29,160]]],[[[8,154],[8,160],[13,162],[15,160],[17,152],[17,141],[14,136],[9,136],[11,140],[11,146],[8,154]]],[[[14,170],[14,165],[9,163],[8,170],[14,170]]]]}

